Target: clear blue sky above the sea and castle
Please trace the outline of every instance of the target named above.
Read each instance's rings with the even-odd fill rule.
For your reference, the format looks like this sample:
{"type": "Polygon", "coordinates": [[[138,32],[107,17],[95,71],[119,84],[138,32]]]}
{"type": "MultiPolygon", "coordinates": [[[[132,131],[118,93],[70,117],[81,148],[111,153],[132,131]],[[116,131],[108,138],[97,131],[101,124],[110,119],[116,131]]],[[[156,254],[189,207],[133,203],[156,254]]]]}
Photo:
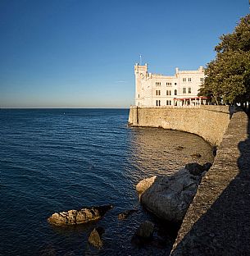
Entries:
{"type": "Polygon", "coordinates": [[[129,107],[134,63],[206,66],[248,0],[0,0],[0,107],[129,107]]]}

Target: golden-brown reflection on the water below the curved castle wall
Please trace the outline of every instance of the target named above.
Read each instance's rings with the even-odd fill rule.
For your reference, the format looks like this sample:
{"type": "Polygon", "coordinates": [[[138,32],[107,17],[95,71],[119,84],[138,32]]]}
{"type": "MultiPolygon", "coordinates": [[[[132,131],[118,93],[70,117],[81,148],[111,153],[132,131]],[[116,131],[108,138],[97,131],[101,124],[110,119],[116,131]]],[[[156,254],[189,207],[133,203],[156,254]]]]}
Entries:
{"type": "Polygon", "coordinates": [[[186,163],[212,162],[211,145],[199,137],[177,130],[132,127],[130,157],[135,181],[152,175],[167,175],[186,163]]]}

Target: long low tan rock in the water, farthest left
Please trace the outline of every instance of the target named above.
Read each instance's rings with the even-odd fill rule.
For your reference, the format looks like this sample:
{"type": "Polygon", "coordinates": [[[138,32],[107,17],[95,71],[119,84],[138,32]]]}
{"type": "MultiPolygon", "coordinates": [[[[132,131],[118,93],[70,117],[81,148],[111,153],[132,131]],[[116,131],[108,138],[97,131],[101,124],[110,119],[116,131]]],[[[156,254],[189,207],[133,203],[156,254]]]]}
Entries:
{"type": "Polygon", "coordinates": [[[82,208],[80,210],[70,210],[67,212],[53,213],[48,217],[48,222],[57,226],[82,224],[101,218],[112,205],[102,205],[98,207],[82,208]]]}

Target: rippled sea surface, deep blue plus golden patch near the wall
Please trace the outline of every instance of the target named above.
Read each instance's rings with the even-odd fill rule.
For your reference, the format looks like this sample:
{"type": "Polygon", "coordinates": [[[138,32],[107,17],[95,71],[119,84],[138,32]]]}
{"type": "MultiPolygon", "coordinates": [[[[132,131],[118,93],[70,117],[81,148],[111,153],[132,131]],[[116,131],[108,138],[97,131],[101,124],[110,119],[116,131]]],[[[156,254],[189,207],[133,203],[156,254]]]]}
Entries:
{"type": "Polygon", "coordinates": [[[135,185],[188,162],[211,162],[211,147],[180,131],[126,127],[128,116],[127,109],[0,110],[0,255],[169,253],[173,237],[141,208],[135,185]],[[55,212],[107,203],[114,208],[99,222],[47,222],[55,212]],[[139,211],[117,219],[131,208],[139,211]],[[144,220],[156,222],[164,245],[131,244],[144,220]],[[101,250],[88,244],[95,226],[105,228],[101,250]]]}

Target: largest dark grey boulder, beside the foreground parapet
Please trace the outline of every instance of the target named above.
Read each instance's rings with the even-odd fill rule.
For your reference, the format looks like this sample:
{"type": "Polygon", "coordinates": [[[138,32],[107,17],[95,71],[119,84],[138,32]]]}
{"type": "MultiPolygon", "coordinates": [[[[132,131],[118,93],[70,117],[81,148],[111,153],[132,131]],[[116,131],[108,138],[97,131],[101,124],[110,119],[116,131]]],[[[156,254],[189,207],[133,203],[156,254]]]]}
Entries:
{"type": "Polygon", "coordinates": [[[196,194],[202,174],[207,171],[206,167],[193,163],[173,176],[152,177],[152,185],[139,190],[141,203],[157,217],[169,222],[181,222],[196,194]]]}

